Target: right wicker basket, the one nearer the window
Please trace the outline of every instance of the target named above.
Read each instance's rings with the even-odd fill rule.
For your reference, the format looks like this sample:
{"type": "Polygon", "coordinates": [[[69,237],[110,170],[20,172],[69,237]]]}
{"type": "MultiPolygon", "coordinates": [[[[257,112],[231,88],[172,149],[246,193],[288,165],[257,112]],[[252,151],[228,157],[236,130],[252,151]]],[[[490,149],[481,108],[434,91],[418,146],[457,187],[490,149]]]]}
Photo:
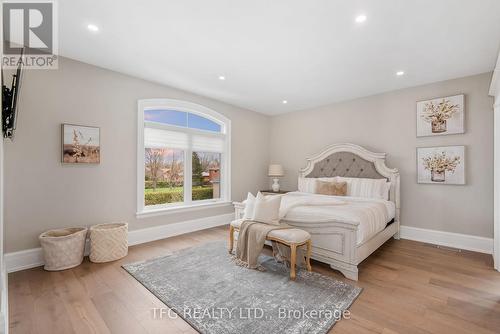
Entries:
{"type": "Polygon", "coordinates": [[[128,254],[128,224],[110,223],[90,228],[90,261],[109,262],[128,254]]]}

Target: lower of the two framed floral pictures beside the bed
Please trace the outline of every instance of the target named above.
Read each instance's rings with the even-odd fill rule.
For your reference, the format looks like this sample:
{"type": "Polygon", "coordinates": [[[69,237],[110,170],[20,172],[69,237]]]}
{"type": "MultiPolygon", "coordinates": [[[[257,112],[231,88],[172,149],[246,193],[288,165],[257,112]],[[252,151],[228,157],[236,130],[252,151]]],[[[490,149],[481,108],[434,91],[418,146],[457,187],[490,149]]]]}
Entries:
{"type": "Polygon", "coordinates": [[[465,184],[465,146],[417,148],[417,182],[465,184]]]}

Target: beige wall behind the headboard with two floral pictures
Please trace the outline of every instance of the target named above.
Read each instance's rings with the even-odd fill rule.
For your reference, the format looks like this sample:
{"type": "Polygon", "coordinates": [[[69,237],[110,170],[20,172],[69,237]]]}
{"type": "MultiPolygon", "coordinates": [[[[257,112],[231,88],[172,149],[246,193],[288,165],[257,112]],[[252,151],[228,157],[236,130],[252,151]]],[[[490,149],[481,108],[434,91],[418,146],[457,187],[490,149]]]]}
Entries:
{"type": "Polygon", "coordinates": [[[389,167],[400,170],[402,225],[492,237],[490,80],[491,73],[485,73],[273,117],[270,158],[286,167],[282,188],[296,189],[306,157],[351,142],[387,152],[389,167]],[[415,102],[460,93],[465,94],[466,133],[416,138],[415,102]],[[417,184],[415,148],[443,145],[466,146],[467,185],[417,184]]]}

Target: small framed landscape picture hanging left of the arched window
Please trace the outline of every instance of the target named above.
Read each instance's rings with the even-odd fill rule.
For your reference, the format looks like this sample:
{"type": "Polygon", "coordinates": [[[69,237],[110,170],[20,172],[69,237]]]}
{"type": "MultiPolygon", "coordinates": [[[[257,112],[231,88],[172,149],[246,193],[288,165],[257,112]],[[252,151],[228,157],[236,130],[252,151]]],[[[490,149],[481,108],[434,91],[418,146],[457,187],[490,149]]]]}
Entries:
{"type": "Polygon", "coordinates": [[[61,124],[61,162],[100,164],[101,129],[95,126],[61,124]]]}

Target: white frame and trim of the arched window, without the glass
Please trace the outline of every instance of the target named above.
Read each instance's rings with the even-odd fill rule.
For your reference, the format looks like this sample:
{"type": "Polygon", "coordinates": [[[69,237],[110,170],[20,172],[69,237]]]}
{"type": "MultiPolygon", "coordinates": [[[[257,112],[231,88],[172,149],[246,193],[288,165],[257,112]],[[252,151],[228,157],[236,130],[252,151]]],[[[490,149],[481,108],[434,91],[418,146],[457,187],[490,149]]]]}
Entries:
{"type": "MultiPolygon", "coordinates": [[[[137,214],[138,218],[145,218],[151,216],[158,216],[162,214],[169,214],[174,212],[184,212],[192,210],[200,210],[203,208],[211,208],[229,205],[231,203],[231,120],[227,117],[219,114],[218,112],[204,107],[202,105],[172,99],[147,99],[139,100],[137,103],[137,214]],[[192,114],[196,114],[217,124],[221,125],[221,133],[225,136],[224,141],[224,152],[222,154],[221,161],[221,197],[219,199],[213,200],[203,200],[190,202],[191,199],[191,173],[185,173],[184,175],[184,188],[187,190],[184,192],[184,202],[183,203],[171,203],[164,205],[155,205],[146,207],[144,205],[144,110],[147,109],[174,109],[178,111],[185,111],[192,114]],[[189,175],[187,175],[189,174],[189,175]],[[189,200],[186,203],[186,198],[189,200]]],[[[173,125],[163,125],[156,124],[155,126],[169,129],[182,130],[184,132],[190,133],[203,133],[205,135],[219,136],[217,133],[209,133],[209,131],[197,130],[191,128],[176,127],[173,125]]],[[[191,156],[185,154],[184,164],[186,166],[191,165],[191,156]]],[[[185,168],[185,170],[191,170],[185,168]]]]}

